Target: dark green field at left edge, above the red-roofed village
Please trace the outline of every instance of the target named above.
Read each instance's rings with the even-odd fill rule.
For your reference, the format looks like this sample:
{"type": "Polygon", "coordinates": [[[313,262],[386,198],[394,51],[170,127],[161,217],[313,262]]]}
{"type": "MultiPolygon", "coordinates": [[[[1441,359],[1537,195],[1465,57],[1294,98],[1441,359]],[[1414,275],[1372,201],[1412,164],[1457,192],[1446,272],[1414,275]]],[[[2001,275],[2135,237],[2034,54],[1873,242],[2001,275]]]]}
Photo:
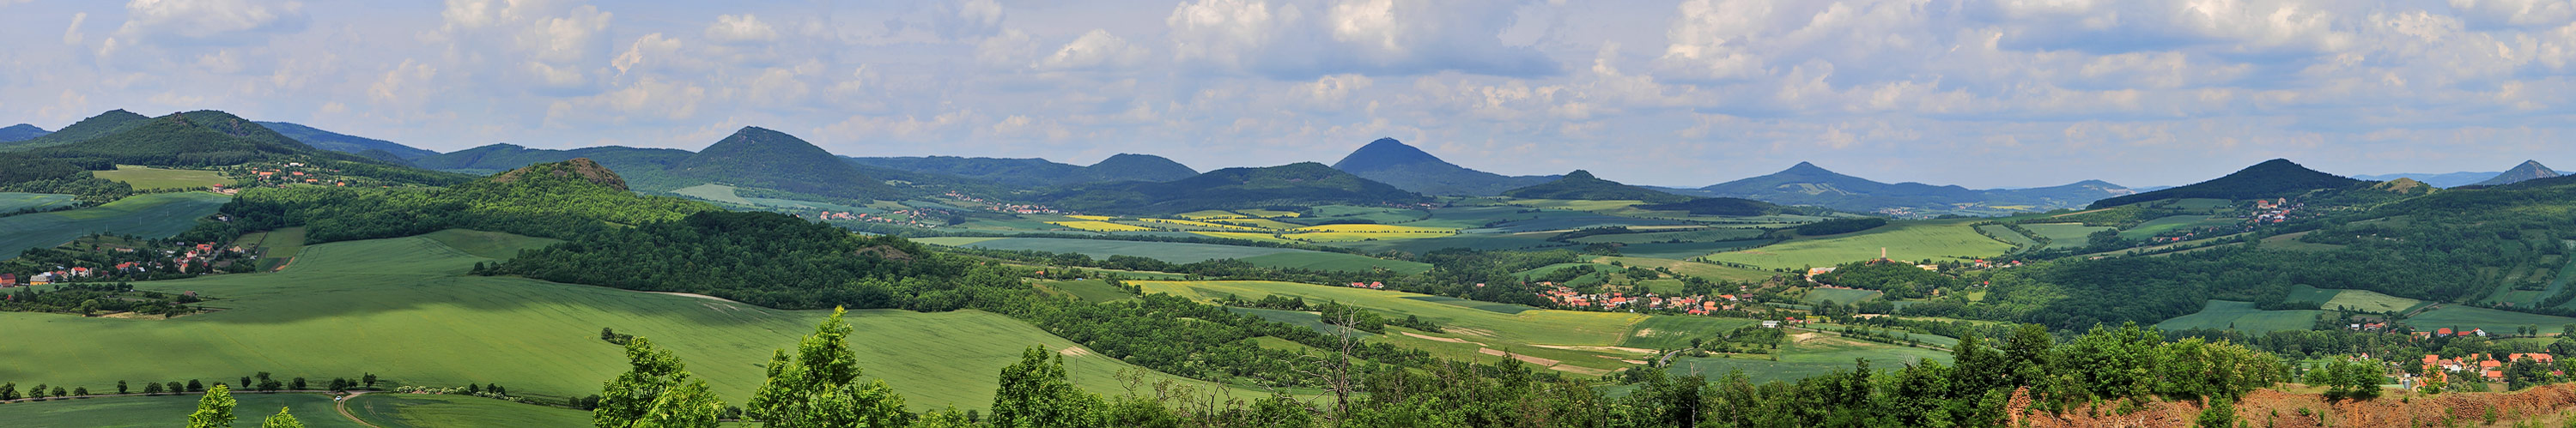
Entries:
{"type": "Polygon", "coordinates": [[[103,206],[72,211],[41,211],[0,217],[0,258],[18,258],[28,248],[52,248],[82,235],[137,235],[170,237],[196,227],[198,217],[214,214],[232,196],[185,191],[118,199],[103,206]]]}

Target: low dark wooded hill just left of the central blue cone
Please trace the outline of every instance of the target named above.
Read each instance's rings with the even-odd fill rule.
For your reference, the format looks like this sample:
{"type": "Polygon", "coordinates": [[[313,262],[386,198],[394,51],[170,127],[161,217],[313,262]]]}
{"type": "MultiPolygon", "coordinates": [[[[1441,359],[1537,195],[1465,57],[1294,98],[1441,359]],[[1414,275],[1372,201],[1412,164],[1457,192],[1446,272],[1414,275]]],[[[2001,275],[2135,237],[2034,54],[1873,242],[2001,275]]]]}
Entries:
{"type": "Polygon", "coordinates": [[[1430,199],[1350,175],[1321,162],[1293,162],[1278,168],[1226,168],[1195,178],[1167,183],[1090,183],[1038,196],[1056,209],[1100,214],[1172,214],[1200,209],[1260,209],[1260,206],[1383,206],[1425,204],[1430,199]]]}

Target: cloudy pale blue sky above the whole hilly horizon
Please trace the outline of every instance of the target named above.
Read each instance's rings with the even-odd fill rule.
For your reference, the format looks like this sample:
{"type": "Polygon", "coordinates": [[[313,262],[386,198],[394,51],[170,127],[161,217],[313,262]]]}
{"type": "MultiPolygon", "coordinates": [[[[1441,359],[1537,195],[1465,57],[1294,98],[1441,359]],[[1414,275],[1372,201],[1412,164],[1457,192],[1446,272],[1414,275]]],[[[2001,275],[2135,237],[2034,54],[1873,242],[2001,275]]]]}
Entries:
{"type": "Polygon", "coordinates": [[[1708,186],[2179,186],[2576,165],[2576,0],[0,0],[0,124],[216,108],[425,150],[1198,170],[1450,162],[1708,186]]]}

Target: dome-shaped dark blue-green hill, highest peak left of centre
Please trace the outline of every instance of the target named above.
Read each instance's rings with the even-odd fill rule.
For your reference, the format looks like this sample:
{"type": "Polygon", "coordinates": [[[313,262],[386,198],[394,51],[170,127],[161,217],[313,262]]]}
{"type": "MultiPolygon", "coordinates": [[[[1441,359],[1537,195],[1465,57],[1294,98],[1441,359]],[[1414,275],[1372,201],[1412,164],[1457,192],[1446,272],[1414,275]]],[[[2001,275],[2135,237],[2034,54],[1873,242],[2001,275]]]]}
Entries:
{"type": "Polygon", "coordinates": [[[894,188],[868,178],[858,165],[793,134],[760,126],[744,126],[698,155],[672,162],[670,175],[860,201],[894,196],[894,188]]]}

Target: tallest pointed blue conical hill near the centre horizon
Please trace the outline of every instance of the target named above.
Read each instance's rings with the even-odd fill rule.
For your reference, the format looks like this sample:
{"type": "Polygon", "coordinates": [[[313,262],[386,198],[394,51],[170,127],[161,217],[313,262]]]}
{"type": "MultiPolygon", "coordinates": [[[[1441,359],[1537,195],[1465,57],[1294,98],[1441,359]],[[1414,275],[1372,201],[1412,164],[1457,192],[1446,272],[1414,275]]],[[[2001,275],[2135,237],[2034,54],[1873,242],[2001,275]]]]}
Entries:
{"type": "Polygon", "coordinates": [[[1388,183],[1404,191],[1432,193],[1432,196],[1497,196],[1502,191],[1551,180],[1533,175],[1515,178],[1515,175],[1468,170],[1396,139],[1368,142],[1360,150],[1345,155],[1342,162],[1332,162],[1332,168],[1368,180],[1388,183]]]}

